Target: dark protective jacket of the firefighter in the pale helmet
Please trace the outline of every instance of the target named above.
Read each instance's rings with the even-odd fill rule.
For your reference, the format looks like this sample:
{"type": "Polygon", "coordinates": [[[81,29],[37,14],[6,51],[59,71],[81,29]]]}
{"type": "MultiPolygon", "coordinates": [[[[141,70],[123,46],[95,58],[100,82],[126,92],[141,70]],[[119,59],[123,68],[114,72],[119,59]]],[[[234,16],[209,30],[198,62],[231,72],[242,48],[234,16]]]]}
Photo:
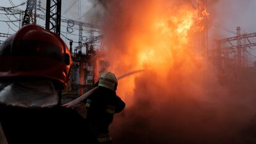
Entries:
{"type": "Polygon", "coordinates": [[[84,101],[87,107],[87,120],[99,133],[108,133],[115,113],[121,112],[126,104],[116,95],[116,91],[99,87],[84,101]]]}

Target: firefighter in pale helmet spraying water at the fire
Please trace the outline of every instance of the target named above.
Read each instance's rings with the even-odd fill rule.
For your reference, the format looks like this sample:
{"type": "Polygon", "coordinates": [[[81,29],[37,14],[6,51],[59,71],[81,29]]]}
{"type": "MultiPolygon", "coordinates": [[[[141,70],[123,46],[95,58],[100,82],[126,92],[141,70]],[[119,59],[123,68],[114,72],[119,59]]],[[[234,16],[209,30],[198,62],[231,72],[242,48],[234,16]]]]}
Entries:
{"type": "Polygon", "coordinates": [[[84,101],[87,120],[99,143],[112,143],[109,124],[114,114],[121,112],[126,104],[116,95],[117,78],[111,72],[101,74],[98,88],[84,101]]]}

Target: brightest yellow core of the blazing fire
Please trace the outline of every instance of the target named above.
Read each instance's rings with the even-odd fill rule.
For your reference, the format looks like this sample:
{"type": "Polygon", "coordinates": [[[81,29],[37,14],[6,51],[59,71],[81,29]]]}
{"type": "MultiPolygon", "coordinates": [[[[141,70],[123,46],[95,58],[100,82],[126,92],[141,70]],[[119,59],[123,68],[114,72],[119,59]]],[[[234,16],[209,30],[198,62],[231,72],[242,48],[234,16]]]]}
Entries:
{"type": "Polygon", "coordinates": [[[136,48],[139,51],[137,64],[141,69],[166,70],[173,62],[173,53],[187,48],[188,32],[194,23],[194,15],[187,11],[181,11],[179,15],[152,21],[155,24],[155,27],[150,28],[152,32],[138,38],[142,40],[136,48]]]}

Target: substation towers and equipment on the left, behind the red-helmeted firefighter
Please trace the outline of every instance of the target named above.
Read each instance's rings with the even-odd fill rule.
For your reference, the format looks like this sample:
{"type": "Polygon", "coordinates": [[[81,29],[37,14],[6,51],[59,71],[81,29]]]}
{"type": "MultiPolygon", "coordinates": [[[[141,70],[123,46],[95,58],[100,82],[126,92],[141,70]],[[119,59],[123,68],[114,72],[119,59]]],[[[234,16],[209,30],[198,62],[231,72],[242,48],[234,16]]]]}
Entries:
{"type": "MultiPolygon", "coordinates": [[[[79,41],[73,41],[69,38],[70,51],[72,53],[73,65],[70,72],[70,85],[66,95],[77,97],[82,95],[86,90],[90,89],[98,80],[98,76],[105,72],[109,66],[109,62],[104,60],[105,52],[101,49],[95,49],[94,44],[100,43],[102,35],[94,36],[94,31],[98,30],[98,25],[93,23],[85,23],[77,20],[67,19],[61,16],[61,0],[47,0],[46,9],[41,6],[41,1],[28,0],[22,2],[19,6],[26,5],[25,11],[19,9],[19,6],[0,7],[1,11],[6,12],[6,15],[19,15],[17,20],[3,21],[8,23],[19,22],[19,28],[27,24],[36,24],[36,19],[45,20],[46,30],[51,30],[58,35],[62,35],[61,22],[67,23],[64,33],[71,34],[74,32],[73,27],[79,26],[79,41]],[[37,11],[43,13],[38,14],[37,11]],[[83,27],[90,28],[90,35],[83,36],[83,27]],[[73,48],[73,43],[78,43],[78,46],[73,48]]],[[[1,37],[8,37],[9,33],[0,33],[1,37]]],[[[66,38],[66,36],[64,36],[66,38]]]]}

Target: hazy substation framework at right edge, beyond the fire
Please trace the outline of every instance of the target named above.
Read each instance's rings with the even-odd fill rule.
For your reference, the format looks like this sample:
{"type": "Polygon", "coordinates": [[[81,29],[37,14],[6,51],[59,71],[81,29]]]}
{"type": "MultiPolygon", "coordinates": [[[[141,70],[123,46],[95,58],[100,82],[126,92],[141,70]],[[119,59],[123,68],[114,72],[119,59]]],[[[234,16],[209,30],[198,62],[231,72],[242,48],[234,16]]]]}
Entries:
{"type": "Polygon", "coordinates": [[[256,33],[241,34],[241,27],[237,27],[237,36],[216,40],[215,64],[220,77],[236,80],[244,79],[255,73],[253,67],[249,67],[249,52],[256,46],[256,33]]]}

